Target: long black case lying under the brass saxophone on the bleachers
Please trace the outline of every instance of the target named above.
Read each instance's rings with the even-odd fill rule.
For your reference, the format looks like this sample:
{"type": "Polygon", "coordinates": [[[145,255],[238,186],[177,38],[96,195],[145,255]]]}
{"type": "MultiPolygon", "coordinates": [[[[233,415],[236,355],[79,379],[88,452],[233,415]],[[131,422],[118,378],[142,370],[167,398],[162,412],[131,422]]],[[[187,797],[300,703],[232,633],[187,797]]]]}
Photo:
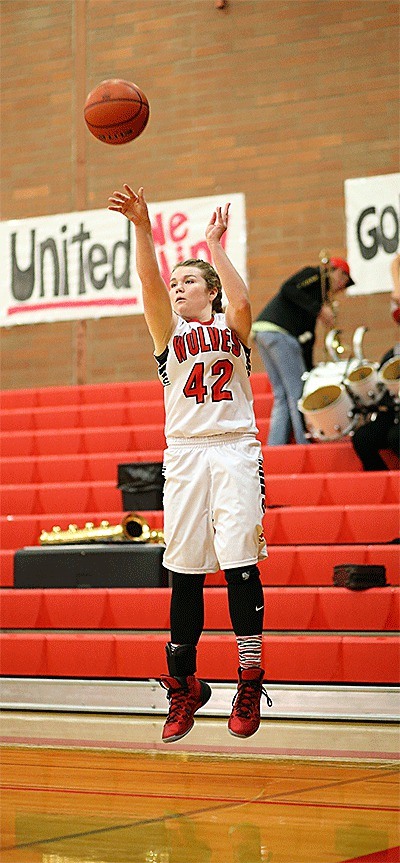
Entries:
{"type": "Polygon", "coordinates": [[[14,587],[167,587],[163,553],[132,542],[27,546],[14,555],[14,587]]]}

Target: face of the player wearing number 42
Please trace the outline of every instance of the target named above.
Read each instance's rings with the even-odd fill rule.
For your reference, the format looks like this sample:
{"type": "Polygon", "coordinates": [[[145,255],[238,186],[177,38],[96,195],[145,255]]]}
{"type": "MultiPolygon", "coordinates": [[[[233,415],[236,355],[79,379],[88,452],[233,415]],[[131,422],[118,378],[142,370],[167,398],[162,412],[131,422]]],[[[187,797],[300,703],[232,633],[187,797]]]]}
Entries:
{"type": "Polygon", "coordinates": [[[177,315],[187,321],[210,319],[216,291],[210,291],[198,267],[176,267],[169,284],[172,308],[177,315]]]}

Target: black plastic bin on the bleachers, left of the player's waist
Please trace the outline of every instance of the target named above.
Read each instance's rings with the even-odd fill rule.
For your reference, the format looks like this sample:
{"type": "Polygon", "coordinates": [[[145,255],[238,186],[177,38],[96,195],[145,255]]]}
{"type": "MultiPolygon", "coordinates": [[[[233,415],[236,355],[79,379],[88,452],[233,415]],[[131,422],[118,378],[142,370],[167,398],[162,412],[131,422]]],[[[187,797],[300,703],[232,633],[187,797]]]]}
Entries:
{"type": "Polygon", "coordinates": [[[141,461],[118,465],[118,486],[125,512],[163,509],[162,462],[141,461]]]}

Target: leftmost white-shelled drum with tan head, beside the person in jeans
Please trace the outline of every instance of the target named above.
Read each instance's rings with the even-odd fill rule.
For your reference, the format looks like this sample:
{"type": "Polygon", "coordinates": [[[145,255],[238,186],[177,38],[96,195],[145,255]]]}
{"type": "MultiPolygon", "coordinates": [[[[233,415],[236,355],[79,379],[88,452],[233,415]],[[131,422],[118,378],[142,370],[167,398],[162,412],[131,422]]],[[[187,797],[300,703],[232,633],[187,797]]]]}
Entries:
{"type": "Polygon", "coordinates": [[[343,384],[328,384],[298,402],[307,430],[313,438],[335,441],[350,434],[356,425],[354,403],[343,384]]]}

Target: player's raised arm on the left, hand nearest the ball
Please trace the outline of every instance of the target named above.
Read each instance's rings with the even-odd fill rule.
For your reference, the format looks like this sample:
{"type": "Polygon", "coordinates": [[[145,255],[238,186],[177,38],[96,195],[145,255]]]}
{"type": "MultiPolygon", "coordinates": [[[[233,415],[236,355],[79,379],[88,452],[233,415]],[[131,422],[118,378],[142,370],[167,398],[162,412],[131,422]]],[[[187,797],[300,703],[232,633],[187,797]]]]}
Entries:
{"type": "Polygon", "coordinates": [[[144,316],[156,354],[162,353],[172,332],[174,313],[161,276],[143,188],[138,193],[126,183],[123,192],[109,197],[109,210],[122,213],[135,226],[136,269],[142,284],[144,316]]]}

